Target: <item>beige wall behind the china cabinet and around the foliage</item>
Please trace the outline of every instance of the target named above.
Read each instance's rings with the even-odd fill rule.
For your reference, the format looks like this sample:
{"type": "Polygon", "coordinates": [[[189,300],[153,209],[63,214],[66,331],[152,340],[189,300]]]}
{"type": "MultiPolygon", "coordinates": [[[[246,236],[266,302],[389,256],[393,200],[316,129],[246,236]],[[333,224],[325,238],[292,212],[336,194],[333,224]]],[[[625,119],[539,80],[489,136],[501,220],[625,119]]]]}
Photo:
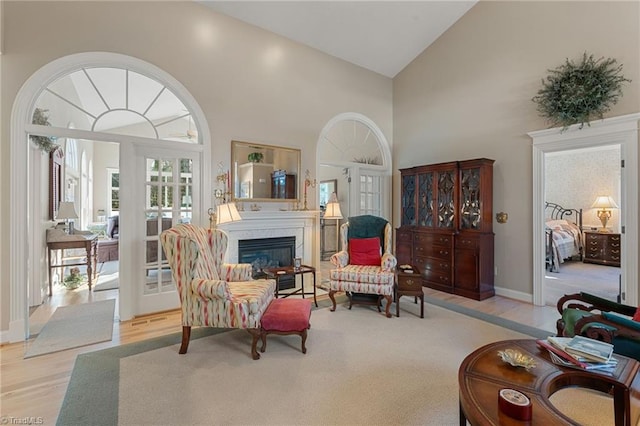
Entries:
{"type": "MultiPolygon", "coordinates": [[[[393,81],[394,169],[488,157],[496,287],[532,294],[532,142],[549,125],[531,98],[548,69],[588,51],[633,80],[607,117],[640,111],[640,3],[480,1],[393,81]]],[[[394,222],[400,179],[394,175],[394,222]]],[[[636,242],[637,243],[637,242],[636,242]]],[[[631,267],[637,268],[634,263],[631,267]]]]}

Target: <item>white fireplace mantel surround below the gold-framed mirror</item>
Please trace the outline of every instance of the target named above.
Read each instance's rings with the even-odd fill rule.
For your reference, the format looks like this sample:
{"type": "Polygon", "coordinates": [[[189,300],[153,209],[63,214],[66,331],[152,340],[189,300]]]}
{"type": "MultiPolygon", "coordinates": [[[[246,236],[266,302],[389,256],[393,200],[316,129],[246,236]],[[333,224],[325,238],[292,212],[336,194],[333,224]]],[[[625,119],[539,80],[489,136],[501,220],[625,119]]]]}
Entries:
{"type": "Polygon", "coordinates": [[[296,211],[242,211],[242,220],[219,225],[229,236],[225,261],[238,262],[238,241],[257,238],[296,238],[296,257],[302,263],[315,265],[319,246],[318,233],[314,232],[320,223],[317,210],[296,211]]]}

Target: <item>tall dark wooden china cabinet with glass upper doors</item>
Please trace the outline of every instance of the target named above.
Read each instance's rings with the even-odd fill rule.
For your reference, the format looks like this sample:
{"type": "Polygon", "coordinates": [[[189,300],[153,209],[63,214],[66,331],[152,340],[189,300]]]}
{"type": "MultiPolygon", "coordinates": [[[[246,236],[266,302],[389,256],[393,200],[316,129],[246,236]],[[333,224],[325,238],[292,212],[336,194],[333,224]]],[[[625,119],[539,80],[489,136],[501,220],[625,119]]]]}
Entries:
{"type": "Polygon", "coordinates": [[[422,285],[483,300],[493,288],[493,163],[480,158],[400,170],[399,264],[422,285]]]}

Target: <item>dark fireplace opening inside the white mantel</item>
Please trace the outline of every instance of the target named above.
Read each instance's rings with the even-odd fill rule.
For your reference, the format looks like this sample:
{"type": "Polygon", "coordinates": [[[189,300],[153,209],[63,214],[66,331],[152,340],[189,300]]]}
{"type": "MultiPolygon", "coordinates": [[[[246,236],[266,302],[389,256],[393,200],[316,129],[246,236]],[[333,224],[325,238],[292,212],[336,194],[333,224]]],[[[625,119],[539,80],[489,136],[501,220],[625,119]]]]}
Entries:
{"type": "MultiPolygon", "coordinates": [[[[291,266],[295,257],[296,237],[238,240],[238,263],[250,263],[254,278],[264,278],[264,269],[291,266]]],[[[295,277],[279,280],[279,290],[295,287],[295,277]]]]}

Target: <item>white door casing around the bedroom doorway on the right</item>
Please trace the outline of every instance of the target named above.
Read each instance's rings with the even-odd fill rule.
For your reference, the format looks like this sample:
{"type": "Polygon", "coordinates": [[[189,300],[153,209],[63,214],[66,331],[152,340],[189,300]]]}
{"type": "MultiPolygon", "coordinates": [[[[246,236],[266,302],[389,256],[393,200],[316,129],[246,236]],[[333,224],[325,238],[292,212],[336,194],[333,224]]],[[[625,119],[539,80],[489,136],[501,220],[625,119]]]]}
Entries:
{"type": "Polygon", "coordinates": [[[545,276],[544,241],[544,154],[554,151],[602,145],[620,145],[625,167],[622,170],[621,224],[622,289],[624,301],[638,304],[638,120],[640,113],[607,118],[566,130],[560,128],[528,133],[533,139],[533,303],[544,305],[545,276]]]}

